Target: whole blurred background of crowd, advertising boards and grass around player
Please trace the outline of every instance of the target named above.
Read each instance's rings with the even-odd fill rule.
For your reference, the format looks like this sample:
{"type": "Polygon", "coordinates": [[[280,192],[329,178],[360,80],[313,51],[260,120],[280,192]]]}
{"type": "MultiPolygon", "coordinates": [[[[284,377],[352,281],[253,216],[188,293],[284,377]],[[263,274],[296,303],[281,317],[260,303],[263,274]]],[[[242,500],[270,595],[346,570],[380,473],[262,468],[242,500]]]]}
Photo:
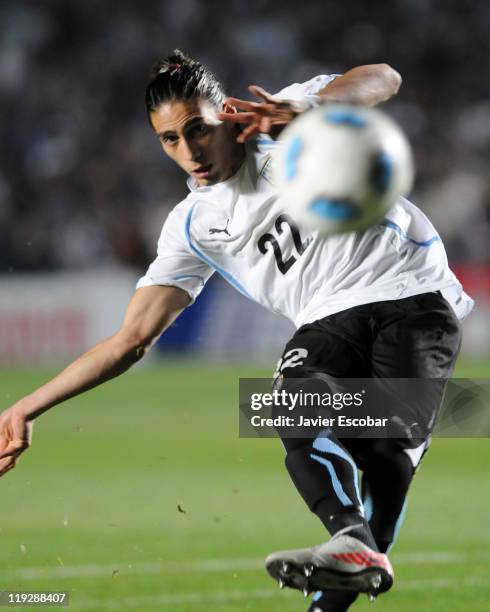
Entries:
{"type": "MultiPolygon", "coordinates": [[[[384,108],[415,149],[412,199],[477,300],[458,373],[488,377],[489,25],[484,0],[4,0],[5,405],[117,329],[185,195],[143,103],[151,64],[176,46],[238,96],[360,63],[401,72],[384,108]]],[[[276,599],[259,558],[319,526],[279,445],[236,431],[238,377],[269,375],[291,329],[213,278],[146,366],[43,417],[0,483],[0,588],[67,588],[87,610],[302,609],[276,599]]],[[[487,609],[489,459],[487,440],[434,443],[394,552],[400,588],[377,608],[487,609]]]]}

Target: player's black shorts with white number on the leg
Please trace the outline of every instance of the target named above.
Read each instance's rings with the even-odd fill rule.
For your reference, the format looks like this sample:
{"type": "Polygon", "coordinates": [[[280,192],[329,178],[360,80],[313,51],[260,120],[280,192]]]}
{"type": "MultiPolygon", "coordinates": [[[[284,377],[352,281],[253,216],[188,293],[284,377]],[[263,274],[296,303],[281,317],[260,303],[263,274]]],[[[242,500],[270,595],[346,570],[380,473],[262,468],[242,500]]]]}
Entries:
{"type": "MultiPolygon", "coordinates": [[[[425,293],[356,306],[303,325],[287,343],[276,375],[377,378],[386,379],[387,387],[393,379],[433,379],[414,407],[418,414],[414,420],[423,421],[425,438],[435,422],[460,344],[461,326],[452,308],[439,292],[425,293]]],[[[407,399],[403,395],[398,388],[391,389],[393,414],[407,399]]],[[[402,444],[415,446],[420,437],[402,444]]]]}

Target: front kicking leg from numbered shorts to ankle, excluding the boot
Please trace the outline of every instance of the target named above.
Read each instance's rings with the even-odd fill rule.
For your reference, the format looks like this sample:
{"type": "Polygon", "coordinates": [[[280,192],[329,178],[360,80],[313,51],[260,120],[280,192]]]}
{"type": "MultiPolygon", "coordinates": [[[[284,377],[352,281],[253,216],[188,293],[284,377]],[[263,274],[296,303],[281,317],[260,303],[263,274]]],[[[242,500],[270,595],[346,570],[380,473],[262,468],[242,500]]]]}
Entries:
{"type": "MultiPolygon", "coordinates": [[[[306,325],[287,344],[278,365],[276,387],[288,393],[314,391],[318,378],[361,377],[364,356],[345,338],[317,324],[306,325]],[[311,387],[311,388],[310,388],[311,387]]],[[[368,546],[376,544],[364,518],[357,465],[329,430],[312,438],[288,438],[278,429],[286,450],[286,468],[308,508],[333,536],[349,530],[368,546]]]]}

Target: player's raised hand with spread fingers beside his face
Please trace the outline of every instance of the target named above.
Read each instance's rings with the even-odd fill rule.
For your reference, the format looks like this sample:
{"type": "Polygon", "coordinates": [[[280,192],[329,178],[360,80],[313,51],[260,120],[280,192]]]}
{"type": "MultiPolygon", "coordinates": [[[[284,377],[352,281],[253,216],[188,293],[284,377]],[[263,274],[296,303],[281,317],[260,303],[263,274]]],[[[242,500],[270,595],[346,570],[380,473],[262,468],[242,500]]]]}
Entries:
{"type": "Polygon", "coordinates": [[[220,121],[248,124],[239,134],[238,142],[245,142],[257,132],[276,136],[301,112],[293,103],[287,100],[275,100],[270,93],[257,85],[250,85],[248,89],[261,101],[249,102],[239,98],[227,98],[225,104],[234,106],[241,112],[217,114],[220,121]]]}

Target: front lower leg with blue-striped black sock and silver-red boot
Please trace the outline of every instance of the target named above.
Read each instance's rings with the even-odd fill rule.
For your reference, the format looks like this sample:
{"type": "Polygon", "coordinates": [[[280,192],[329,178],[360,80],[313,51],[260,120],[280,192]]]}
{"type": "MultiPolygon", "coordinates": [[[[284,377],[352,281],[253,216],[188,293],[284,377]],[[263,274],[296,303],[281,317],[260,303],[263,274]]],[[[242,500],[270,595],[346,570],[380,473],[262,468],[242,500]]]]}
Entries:
{"type": "MultiPolygon", "coordinates": [[[[348,451],[333,435],[283,442],[296,488],[333,537],[313,548],[269,555],[266,567],[271,576],[281,587],[305,594],[328,587],[371,594],[388,590],[393,570],[378,552],[364,516],[357,466],[348,451]]],[[[349,594],[349,602],[354,598],[349,594]]],[[[345,595],[341,600],[345,603],[345,595]]]]}

